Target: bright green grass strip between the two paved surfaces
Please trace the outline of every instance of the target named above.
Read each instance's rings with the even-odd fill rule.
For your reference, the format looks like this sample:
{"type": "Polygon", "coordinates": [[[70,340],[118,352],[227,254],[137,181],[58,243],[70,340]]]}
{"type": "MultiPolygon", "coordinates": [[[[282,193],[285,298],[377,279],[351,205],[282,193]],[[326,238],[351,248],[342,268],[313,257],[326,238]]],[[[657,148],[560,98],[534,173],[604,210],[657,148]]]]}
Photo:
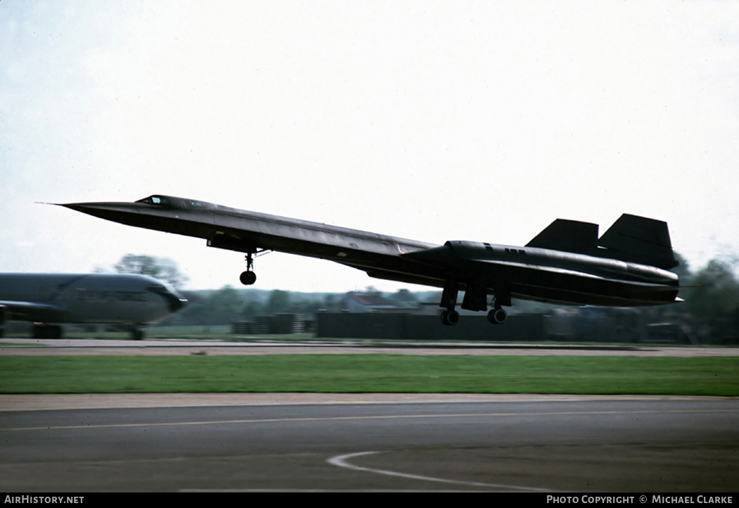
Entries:
{"type": "Polygon", "coordinates": [[[739,359],[407,354],[0,357],[0,393],[156,392],[739,396],[739,359]]]}

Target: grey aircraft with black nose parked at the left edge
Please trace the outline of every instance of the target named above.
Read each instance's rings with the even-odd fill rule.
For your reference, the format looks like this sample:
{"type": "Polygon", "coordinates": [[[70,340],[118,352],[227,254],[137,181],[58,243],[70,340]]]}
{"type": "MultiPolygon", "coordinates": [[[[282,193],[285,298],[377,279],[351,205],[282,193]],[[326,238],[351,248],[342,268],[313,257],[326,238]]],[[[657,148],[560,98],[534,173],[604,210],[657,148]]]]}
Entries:
{"type": "Polygon", "coordinates": [[[36,323],[36,338],[60,338],[59,323],[105,323],[143,337],[141,326],[185,305],[160,281],[130,274],[0,274],[0,332],[7,321],[36,323]]]}

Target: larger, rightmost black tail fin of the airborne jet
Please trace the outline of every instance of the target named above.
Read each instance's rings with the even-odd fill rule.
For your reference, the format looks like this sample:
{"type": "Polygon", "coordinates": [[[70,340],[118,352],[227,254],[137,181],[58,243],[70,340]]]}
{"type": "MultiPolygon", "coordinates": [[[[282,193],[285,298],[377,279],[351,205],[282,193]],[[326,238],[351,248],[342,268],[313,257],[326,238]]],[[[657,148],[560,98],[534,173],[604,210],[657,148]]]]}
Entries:
{"type": "Polygon", "coordinates": [[[670,270],[678,266],[667,222],[624,213],[598,240],[608,257],[670,270]]]}

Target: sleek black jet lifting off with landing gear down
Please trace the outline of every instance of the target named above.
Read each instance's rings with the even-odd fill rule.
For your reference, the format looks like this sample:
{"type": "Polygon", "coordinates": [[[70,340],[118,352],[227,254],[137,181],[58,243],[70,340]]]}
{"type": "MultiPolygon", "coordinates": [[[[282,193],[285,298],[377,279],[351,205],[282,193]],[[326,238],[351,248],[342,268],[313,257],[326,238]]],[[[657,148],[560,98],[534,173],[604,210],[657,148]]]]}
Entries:
{"type": "Polygon", "coordinates": [[[135,227],[205,238],[208,246],[246,254],[243,284],[253,284],[253,256],[273,250],[323,258],[374,278],[443,288],[441,320],[462,309],[503,323],[511,298],[568,305],[646,306],[681,301],[667,223],[624,214],[600,238],[598,225],[556,219],[525,247],[474,241],[427,244],[193,199],[154,195],[137,202],[60,205],[135,227]]]}

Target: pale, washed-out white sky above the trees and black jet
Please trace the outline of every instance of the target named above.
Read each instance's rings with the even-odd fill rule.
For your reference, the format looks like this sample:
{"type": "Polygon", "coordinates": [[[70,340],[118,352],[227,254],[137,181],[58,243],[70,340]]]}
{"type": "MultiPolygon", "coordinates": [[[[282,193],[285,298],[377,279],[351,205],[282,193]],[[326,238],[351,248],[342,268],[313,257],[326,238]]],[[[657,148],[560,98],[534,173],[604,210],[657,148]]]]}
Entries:
{"type": "Polygon", "coordinates": [[[239,286],[239,253],[35,204],[153,193],[439,244],[635,213],[697,269],[739,253],[739,2],[2,0],[0,134],[4,272],[239,286]]]}

